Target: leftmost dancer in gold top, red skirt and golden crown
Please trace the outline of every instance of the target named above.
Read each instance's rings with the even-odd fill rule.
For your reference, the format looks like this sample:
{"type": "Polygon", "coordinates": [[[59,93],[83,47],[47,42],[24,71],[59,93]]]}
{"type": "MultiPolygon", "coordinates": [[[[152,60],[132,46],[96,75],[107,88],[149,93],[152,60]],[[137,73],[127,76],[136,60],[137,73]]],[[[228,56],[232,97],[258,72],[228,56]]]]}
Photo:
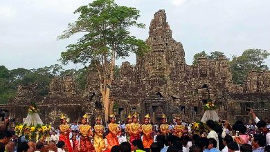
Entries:
{"type": "Polygon", "coordinates": [[[73,152],[73,149],[71,147],[71,142],[69,141],[69,133],[71,132],[71,126],[69,124],[66,123],[66,116],[61,115],[60,117],[60,126],[59,129],[61,131],[59,140],[63,141],[64,144],[66,144],[69,152],[73,152]]]}

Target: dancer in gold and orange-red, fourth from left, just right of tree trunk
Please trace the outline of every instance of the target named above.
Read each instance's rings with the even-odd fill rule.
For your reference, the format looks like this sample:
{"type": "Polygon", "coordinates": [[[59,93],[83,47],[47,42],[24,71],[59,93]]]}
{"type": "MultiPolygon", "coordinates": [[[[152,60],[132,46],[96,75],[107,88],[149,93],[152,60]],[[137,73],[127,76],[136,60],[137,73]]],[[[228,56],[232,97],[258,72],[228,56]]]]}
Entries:
{"type": "Polygon", "coordinates": [[[108,124],[109,127],[109,134],[106,135],[108,146],[108,151],[111,151],[111,147],[115,145],[119,145],[118,138],[116,135],[118,135],[120,129],[118,128],[118,124],[116,124],[116,117],[114,114],[109,115],[110,123],[108,124]]]}

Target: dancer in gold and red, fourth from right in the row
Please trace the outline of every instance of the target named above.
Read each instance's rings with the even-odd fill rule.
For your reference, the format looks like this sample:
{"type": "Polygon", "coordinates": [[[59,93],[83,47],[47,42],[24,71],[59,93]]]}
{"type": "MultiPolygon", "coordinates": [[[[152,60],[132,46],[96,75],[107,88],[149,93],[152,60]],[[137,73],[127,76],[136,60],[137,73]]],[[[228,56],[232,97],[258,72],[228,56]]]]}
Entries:
{"type": "Polygon", "coordinates": [[[141,140],[141,124],[138,123],[138,114],[134,113],[130,124],[130,144],[133,140],[141,140]]]}

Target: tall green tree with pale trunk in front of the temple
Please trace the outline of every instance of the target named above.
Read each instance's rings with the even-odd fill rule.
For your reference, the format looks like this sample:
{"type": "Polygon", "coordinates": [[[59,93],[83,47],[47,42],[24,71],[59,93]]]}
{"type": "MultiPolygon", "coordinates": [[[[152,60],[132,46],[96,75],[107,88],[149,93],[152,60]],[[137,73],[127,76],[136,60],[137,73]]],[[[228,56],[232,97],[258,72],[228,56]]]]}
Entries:
{"type": "Polygon", "coordinates": [[[67,46],[60,60],[64,64],[69,61],[75,64],[89,64],[92,61],[95,64],[107,120],[114,104],[109,103],[109,95],[115,61],[118,57],[127,57],[130,52],[143,55],[148,46],[143,40],[132,36],[129,28],[144,28],[145,25],[137,22],[140,15],[136,8],[118,6],[114,0],[96,0],[81,6],[74,13],[80,14],[78,20],[69,23],[69,29],[58,38],[66,39],[78,32],[84,35],[76,44],[67,46]]]}

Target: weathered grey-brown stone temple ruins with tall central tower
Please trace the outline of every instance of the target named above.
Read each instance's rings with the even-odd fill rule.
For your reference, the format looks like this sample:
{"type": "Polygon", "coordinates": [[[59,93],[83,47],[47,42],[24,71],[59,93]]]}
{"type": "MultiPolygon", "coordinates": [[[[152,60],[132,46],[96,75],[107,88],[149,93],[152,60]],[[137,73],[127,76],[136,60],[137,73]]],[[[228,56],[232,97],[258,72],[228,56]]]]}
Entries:
{"type": "MultiPolygon", "coordinates": [[[[225,56],[217,60],[199,58],[196,66],[187,65],[183,45],[172,38],[165,10],[154,14],[146,42],[151,46],[150,52],[137,57],[135,66],[123,62],[120,75],[111,86],[110,99],[115,102],[114,113],[119,121],[135,111],[141,119],[149,113],[152,122],[160,122],[163,113],[169,122],[177,114],[183,121],[200,120],[208,98],[217,104],[219,117],[231,122],[251,119],[246,107],[253,108],[262,119],[270,116],[269,71],[251,72],[245,84],[239,86],[233,84],[225,56]]],[[[98,74],[89,68],[83,91],[72,76],[55,77],[45,98],[37,96],[36,86],[19,86],[15,100],[1,108],[8,108],[10,116],[22,122],[30,101],[40,101],[37,104],[44,122],[58,124],[61,113],[71,122],[89,113],[93,122],[102,113],[98,74]]]]}

